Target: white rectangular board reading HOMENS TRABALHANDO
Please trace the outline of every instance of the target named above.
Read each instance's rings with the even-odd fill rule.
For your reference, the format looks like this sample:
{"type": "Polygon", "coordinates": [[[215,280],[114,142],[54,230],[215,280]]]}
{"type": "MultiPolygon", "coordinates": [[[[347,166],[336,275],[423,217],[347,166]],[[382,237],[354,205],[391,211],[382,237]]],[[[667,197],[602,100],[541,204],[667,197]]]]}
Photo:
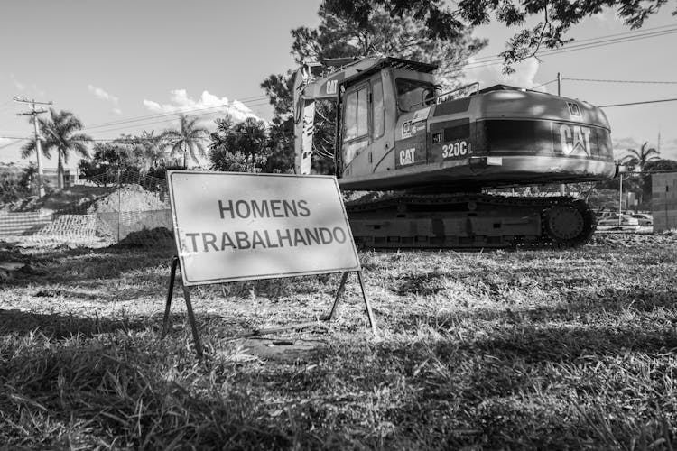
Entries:
{"type": "Polygon", "coordinates": [[[359,271],[329,176],[168,170],[186,285],[359,271]]]}

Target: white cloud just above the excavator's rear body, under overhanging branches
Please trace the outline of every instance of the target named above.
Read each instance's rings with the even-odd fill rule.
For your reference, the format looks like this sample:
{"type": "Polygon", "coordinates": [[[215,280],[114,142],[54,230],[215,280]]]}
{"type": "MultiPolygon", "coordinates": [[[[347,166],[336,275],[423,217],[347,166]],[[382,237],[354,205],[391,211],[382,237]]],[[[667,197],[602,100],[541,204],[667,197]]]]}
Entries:
{"type": "MultiPolygon", "coordinates": [[[[503,70],[503,64],[472,67],[473,64],[481,63],[477,63],[472,58],[468,60],[468,65],[470,67],[467,67],[467,69],[464,70],[464,81],[466,83],[479,81],[480,88],[490,87],[497,84],[533,88],[542,84],[534,80],[536,74],[538,73],[540,63],[533,57],[514,64],[513,69],[515,69],[515,72],[510,75],[504,75],[501,73],[503,70]]],[[[537,87],[536,89],[539,91],[548,92],[547,87],[537,87]]]]}

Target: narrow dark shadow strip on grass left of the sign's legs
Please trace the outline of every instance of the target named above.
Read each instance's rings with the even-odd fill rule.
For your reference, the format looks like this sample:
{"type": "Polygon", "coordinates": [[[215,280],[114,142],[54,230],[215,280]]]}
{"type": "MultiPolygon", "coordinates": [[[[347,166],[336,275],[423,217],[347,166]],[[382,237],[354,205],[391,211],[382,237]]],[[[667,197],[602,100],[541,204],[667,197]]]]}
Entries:
{"type": "Polygon", "coordinates": [[[0,308],[0,335],[26,335],[37,330],[45,336],[94,336],[116,331],[143,330],[153,326],[141,319],[82,318],[60,313],[30,313],[17,309],[0,308]]]}

